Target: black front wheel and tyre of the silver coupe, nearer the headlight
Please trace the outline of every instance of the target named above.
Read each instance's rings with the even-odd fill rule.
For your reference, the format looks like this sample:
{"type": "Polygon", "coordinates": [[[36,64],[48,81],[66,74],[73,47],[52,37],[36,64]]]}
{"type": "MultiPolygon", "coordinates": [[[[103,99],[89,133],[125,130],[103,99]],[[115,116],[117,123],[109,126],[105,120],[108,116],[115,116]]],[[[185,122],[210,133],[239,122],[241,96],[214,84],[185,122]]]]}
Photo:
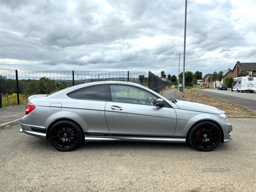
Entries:
{"type": "Polygon", "coordinates": [[[199,122],[190,129],[188,141],[193,148],[199,151],[211,151],[220,143],[221,131],[213,122],[199,122]]]}

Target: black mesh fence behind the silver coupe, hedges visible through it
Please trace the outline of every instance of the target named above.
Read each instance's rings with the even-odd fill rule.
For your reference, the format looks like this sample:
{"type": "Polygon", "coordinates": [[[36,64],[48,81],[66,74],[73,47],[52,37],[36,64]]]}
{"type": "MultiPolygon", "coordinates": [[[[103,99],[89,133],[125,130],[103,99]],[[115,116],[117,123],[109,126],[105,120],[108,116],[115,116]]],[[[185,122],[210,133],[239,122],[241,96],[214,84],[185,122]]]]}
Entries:
{"type": "MultiPolygon", "coordinates": [[[[137,84],[147,85],[151,90],[160,93],[169,82],[163,81],[151,72],[138,71],[20,71],[0,69],[0,108],[2,108],[2,97],[4,101],[17,103],[20,105],[20,98],[34,94],[49,94],[71,87],[77,84],[92,81],[129,81],[137,84]],[[147,79],[148,82],[141,82],[147,79]],[[49,85],[43,89],[43,84],[38,84],[41,80],[51,81],[52,89],[49,85]],[[62,87],[61,87],[62,85],[62,87]],[[33,92],[39,90],[39,93],[33,92]],[[17,99],[15,99],[17,97],[17,99]]],[[[26,101],[25,101],[26,102],[26,101]]],[[[13,105],[13,104],[10,104],[13,105]]]]}

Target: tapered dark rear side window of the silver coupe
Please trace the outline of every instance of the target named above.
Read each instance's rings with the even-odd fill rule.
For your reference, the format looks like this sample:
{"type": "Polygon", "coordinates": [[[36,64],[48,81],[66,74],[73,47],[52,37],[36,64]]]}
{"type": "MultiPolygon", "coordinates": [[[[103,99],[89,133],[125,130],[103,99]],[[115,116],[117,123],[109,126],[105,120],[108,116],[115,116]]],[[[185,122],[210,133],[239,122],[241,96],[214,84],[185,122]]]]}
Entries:
{"type": "Polygon", "coordinates": [[[75,92],[70,93],[70,96],[73,99],[93,99],[93,100],[107,100],[106,96],[106,86],[94,86],[87,87],[84,89],[77,90],[75,92]]]}

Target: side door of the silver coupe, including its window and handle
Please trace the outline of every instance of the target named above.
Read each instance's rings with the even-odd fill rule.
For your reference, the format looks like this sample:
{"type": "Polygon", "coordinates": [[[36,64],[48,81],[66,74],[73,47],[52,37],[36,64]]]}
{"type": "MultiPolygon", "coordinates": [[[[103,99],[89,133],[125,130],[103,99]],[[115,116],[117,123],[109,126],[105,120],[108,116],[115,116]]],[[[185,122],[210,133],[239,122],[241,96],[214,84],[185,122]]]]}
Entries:
{"type": "Polygon", "coordinates": [[[110,85],[111,101],[105,116],[111,136],[173,137],[176,113],[169,105],[156,107],[158,99],[137,87],[110,85]]]}

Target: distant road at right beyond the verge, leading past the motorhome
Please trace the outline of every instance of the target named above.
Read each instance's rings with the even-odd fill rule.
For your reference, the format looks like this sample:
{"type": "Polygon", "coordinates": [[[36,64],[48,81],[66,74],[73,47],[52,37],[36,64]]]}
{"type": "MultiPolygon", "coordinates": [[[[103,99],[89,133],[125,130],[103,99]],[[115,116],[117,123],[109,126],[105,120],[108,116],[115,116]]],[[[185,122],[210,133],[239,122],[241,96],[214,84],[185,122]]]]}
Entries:
{"type": "Polygon", "coordinates": [[[241,93],[236,91],[232,92],[230,88],[228,90],[218,90],[218,89],[191,89],[191,90],[256,111],[256,92],[253,92],[253,93],[250,93],[250,92],[241,93]]]}

